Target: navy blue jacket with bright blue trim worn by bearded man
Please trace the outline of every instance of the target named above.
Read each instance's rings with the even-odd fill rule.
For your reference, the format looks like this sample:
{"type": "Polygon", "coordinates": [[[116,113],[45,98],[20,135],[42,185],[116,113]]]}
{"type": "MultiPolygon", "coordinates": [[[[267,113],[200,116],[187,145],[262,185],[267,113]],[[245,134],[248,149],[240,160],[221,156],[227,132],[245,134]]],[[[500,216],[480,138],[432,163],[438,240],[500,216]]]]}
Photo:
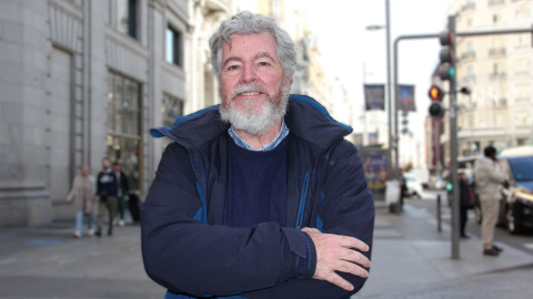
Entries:
{"type": "Polygon", "coordinates": [[[175,142],[141,207],[144,268],[169,289],[167,298],[349,298],[363,286],[365,279],[346,274],[340,275],[354,285],[351,292],[311,279],[312,243],[311,268],[295,266],[305,257],[303,227],[352,236],[372,248],[373,198],[356,150],[343,138],[351,127],[301,95],[291,95],[284,120],[291,131],[285,227],[222,225],[231,137],[219,106],[151,130],[175,142]]]}

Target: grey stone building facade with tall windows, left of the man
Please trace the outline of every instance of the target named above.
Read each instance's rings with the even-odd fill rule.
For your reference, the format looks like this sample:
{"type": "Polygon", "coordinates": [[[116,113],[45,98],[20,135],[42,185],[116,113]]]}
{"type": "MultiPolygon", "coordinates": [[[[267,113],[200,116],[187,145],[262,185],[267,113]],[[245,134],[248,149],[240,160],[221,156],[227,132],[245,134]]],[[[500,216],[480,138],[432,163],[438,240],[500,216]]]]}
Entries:
{"type": "Polygon", "coordinates": [[[164,146],[149,128],[214,102],[205,37],[230,8],[0,1],[0,226],[72,217],[73,177],[105,156],[145,193],[164,146]]]}

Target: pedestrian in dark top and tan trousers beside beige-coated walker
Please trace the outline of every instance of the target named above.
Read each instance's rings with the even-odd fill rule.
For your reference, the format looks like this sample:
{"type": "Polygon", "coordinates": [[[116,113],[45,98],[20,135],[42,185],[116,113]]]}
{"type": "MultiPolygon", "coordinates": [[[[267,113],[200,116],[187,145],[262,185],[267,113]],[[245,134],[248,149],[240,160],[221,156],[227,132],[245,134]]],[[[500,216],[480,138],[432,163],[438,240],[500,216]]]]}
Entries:
{"type": "Polygon", "coordinates": [[[102,236],[103,218],[105,214],[109,216],[108,236],[113,234],[113,219],[117,214],[117,176],[111,169],[109,158],[102,158],[102,171],[97,177],[97,193],[94,200],[98,202],[97,233],[98,237],[102,236]]]}

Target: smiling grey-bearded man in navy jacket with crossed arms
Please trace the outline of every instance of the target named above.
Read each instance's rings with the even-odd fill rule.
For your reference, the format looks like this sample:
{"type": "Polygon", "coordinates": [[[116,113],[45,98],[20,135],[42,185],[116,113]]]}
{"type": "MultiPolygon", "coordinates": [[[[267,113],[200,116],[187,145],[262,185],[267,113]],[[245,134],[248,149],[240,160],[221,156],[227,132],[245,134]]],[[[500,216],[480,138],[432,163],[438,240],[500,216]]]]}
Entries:
{"type": "Polygon", "coordinates": [[[370,267],[372,195],[351,127],[289,95],[294,44],[243,12],[210,40],[222,105],[151,131],[174,141],[141,208],[165,298],[349,298],[370,267]]]}

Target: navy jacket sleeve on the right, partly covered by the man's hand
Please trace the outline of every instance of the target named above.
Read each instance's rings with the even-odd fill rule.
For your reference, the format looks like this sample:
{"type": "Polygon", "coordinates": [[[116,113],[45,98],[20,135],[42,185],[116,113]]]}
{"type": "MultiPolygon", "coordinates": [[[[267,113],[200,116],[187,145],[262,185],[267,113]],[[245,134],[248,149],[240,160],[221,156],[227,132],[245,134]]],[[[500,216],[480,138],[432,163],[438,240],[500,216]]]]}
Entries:
{"type": "MultiPolygon", "coordinates": [[[[374,202],[355,147],[351,143],[342,142],[331,154],[328,165],[325,173],[319,176],[324,179],[322,190],[318,194],[323,198],[319,209],[319,218],[323,221],[322,233],[351,236],[364,241],[369,245],[370,250],[363,255],[370,259],[374,227],[374,202]]],[[[291,279],[278,283],[273,288],[244,295],[244,297],[350,298],[363,287],[366,280],[343,272],[338,274],[354,286],[352,291],[346,291],[323,280],[291,279]]]]}

